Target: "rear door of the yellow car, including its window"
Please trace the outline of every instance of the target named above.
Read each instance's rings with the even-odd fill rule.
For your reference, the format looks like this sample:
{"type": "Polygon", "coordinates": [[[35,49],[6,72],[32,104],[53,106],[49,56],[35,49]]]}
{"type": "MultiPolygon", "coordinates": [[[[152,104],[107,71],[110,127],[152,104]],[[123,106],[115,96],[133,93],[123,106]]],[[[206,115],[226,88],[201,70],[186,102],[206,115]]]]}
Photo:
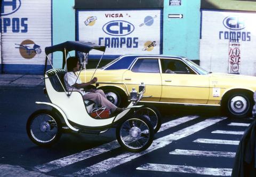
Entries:
{"type": "Polygon", "coordinates": [[[130,70],[123,74],[123,83],[130,92],[133,87],[138,91],[141,83],[146,85],[143,101],[159,101],[162,93],[162,79],[158,58],[138,58],[130,70]]]}

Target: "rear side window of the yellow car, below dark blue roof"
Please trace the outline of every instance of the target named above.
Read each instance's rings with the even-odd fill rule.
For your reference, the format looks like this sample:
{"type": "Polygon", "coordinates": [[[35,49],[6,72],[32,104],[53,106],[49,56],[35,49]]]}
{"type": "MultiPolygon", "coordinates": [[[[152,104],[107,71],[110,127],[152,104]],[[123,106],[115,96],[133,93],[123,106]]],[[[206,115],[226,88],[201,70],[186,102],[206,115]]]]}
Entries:
{"type": "Polygon", "coordinates": [[[158,59],[138,59],[132,71],[134,73],[160,73],[158,59]]]}

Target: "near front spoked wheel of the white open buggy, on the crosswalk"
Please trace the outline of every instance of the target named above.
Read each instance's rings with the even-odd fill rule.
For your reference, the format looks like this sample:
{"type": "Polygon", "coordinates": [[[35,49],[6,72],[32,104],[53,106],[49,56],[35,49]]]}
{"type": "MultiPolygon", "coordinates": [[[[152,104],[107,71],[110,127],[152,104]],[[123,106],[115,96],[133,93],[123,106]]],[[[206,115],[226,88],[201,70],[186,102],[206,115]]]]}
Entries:
{"type": "Polygon", "coordinates": [[[147,118],[131,116],[117,126],[116,139],[124,149],[140,152],[146,150],[153,142],[154,129],[147,118]],[[135,147],[136,144],[138,147],[135,147]]]}

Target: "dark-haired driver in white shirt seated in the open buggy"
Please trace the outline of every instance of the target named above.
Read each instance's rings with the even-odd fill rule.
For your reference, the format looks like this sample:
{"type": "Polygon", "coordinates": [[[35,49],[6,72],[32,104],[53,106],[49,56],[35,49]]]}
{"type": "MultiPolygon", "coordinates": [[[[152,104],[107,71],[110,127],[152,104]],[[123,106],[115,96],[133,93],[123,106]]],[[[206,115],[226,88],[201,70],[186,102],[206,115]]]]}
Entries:
{"type": "Polygon", "coordinates": [[[97,82],[97,77],[94,77],[90,82],[82,83],[79,77],[76,75],[76,71],[79,71],[79,61],[77,57],[69,57],[67,59],[67,70],[68,72],[64,76],[65,85],[68,91],[78,91],[82,93],[84,100],[92,100],[98,106],[106,107],[111,112],[121,112],[123,108],[117,108],[115,104],[111,103],[102,90],[89,90],[84,92],[84,88],[97,82]]]}

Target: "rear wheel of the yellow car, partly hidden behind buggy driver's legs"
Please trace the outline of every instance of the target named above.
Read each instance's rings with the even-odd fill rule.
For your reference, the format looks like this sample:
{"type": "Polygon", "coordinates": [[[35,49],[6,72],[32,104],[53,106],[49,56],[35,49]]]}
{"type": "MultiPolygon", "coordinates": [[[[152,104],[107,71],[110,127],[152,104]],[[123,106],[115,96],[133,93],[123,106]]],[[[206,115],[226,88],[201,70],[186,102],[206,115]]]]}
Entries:
{"type": "Polygon", "coordinates": [[[127,106],[128,100],[125,93],[115,89],[103,89],[103,91],[106,94],[107,99],[117,107],[122,108],[127,106]]]}

